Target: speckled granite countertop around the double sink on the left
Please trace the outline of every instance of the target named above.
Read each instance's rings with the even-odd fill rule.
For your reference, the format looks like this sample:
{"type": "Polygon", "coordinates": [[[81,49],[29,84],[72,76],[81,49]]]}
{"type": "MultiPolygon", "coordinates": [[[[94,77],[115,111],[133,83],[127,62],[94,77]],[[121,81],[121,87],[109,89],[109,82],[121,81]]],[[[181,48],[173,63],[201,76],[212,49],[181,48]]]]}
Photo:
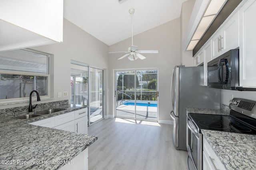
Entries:
{"type": "Polygon", "coordinates": [[[93,135],[28,124],[84,107],[65,104],[56,108],[65,110],[30,120],[14,118],[26,112],[1,114],[0,169],[58,169],[64,165],[62,162],[72,160],[98,139],[93,135]],[[56,162],[47,164],[51,161],[56,162]]]}

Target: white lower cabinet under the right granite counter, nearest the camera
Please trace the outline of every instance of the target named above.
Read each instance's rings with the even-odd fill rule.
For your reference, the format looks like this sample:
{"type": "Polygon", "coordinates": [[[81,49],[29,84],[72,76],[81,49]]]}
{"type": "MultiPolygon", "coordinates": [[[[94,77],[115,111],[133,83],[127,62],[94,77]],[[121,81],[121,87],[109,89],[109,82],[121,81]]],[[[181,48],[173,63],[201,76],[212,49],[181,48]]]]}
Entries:
{"type": "Polygon", "coordinates": [[[205,138],[203,138],[203,170],[226,170],[205,138]]]}

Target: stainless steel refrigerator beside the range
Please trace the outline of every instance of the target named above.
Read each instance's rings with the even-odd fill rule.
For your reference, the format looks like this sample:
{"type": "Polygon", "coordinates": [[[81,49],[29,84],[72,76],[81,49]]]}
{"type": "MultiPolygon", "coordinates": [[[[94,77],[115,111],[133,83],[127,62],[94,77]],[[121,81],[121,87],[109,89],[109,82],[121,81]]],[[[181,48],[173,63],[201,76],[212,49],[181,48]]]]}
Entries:
{"type": "Polygon", "coordinates": [[[220,109],[220,89],[203,86],[203,66],[175,66],[172,73],[170,116],[174,120],[173,141],[176,149],[186,147],[186,108],[220,109]]]}

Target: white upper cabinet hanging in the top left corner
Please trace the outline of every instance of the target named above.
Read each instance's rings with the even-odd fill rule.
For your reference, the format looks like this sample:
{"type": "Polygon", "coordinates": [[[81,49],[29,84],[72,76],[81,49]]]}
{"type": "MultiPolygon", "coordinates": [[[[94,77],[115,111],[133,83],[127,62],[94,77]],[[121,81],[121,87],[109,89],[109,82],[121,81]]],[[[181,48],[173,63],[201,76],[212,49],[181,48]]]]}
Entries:
{"type": "Polygon", "coordinates": [[[1,0],[0,51],[62,42],[63,0],[1,0]]]}

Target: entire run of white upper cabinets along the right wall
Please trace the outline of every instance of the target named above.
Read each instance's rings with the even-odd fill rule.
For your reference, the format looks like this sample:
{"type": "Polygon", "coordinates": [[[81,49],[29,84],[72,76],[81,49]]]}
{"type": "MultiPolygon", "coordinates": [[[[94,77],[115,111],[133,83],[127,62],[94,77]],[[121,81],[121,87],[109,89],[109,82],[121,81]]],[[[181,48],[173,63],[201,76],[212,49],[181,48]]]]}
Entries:
{"type": "Polygon", "coordinates": [[[239,47],[239,86],[256,88],[255,16],[256,0],[248,0],[196,53],[194,66],[204,62],[204,86],[207,85],[207,63],[239,47]],[[204,57],[203,61],[200,56],[204,57]]]}

